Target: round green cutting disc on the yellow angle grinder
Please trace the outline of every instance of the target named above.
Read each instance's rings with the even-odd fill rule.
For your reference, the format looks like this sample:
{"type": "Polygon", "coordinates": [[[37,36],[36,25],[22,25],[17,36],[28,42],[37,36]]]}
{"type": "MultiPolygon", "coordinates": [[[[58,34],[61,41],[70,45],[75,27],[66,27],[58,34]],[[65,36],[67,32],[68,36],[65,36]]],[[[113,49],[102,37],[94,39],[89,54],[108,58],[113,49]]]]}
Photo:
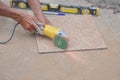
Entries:
{"type": "Polygon", "coordinates": [[[60,49],[67,48],[67,42],[64,37],[62,36],[55,36],[54,37],[54,45],[60,49]]]}

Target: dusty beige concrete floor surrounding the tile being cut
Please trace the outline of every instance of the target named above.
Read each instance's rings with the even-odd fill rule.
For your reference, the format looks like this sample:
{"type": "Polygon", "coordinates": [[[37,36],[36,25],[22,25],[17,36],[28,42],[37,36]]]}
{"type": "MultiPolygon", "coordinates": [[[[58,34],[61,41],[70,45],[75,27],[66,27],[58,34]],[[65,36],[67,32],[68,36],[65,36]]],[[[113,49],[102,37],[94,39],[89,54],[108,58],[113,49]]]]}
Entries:
{"type": "MultiPolygon", "coordinates": [[[[18,27],[13,40],[0,45],[0,80],[120,80],[120,14],[101,10],[93,20],[108,49],[38,54],[35,36],[18,27]]],[[[0,16],[0,41],[15,24],[8,21],[0,16]]]]}

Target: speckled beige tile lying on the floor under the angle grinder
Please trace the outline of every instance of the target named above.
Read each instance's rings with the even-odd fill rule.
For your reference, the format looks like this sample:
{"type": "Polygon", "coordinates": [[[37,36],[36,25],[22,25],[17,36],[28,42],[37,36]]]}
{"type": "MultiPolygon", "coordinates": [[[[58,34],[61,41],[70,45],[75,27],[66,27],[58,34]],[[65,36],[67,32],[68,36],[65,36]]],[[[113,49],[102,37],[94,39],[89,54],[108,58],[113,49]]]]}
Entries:
{"type": "MultiPolygon", "coordinates": [[[[68,35],[67,51],[106,48],[103,37],[90,15],[47,16],[54,26],[62,28],[68,35]]],[[[54,46],[53,40],[36,36],[38,51],[63,51],[54,46]]]]}

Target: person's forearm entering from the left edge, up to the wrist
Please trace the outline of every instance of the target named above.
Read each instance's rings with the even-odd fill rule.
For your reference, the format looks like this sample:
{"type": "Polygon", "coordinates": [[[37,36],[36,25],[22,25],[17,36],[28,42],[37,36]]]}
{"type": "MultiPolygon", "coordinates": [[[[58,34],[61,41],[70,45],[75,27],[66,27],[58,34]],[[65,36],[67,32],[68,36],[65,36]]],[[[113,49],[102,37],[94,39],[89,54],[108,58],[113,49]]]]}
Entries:
{"type": "Polygon", "coordinates": [[[13,10],[12,8],[10,8],[1,1],[0,1],[0,16],[6,16],[16,21],[20,21],[20,18],[22,17],[20,12],[18,12],[17,10],[13,10]]]}

